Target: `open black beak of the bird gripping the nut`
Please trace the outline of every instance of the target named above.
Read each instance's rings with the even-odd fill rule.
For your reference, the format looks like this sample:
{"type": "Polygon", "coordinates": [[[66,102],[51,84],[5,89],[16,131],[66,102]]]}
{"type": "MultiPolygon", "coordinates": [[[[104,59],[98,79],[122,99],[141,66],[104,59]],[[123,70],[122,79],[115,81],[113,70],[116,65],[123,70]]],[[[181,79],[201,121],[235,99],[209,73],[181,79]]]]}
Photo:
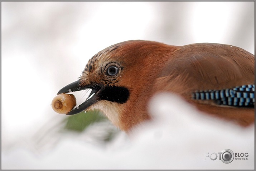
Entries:
{"type": "Polygon", "coordinates": [[[57,94],[66,93],[66,92],[74,92],[74,91],[80,91],[85,89],[92,89],[90,95],[86,99],[85,102],[83,102],[81,105],[75,107],[73,110],[68,112],[66,115],[74,115],[78,114],[84,110],[86,110],[89,106],[92,104],[95,104],[97,101],[99,101],[99,92],[102,89],[100,85],[90,84],[86,86],[81,86],[80,80],[77,80],[75,82],[72,82],[71,84],[63,87],[57,94]]]}

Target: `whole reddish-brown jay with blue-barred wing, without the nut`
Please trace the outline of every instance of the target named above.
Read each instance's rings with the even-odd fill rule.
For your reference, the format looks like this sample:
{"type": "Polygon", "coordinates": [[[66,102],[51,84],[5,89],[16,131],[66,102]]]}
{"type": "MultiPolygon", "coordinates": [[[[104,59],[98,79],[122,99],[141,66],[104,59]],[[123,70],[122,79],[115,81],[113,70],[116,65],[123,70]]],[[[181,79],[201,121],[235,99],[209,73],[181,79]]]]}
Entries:
{"type": "Polygon", "coordinates": [[[254,60],[250,52],[226,44],[129,40],[94,55],[79,79],[58,94],[92,89],[67,115],[100,110],[125,132],[152,119],[149,101],[161,92],[179,95],[206,115],[247,127],[254,123],[254,60]]]}

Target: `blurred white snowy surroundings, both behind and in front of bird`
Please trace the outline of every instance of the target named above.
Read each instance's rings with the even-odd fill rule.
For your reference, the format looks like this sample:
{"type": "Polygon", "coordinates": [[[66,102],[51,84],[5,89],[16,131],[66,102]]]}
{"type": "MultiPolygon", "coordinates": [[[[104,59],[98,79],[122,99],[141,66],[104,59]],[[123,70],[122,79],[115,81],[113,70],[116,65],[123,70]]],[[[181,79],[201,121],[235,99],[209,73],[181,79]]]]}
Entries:
{"type": "Polygon", "coordinates": [[[209,118],[171,94],[153,99],[153,122],[108,144],[93,139],[113,129],[106,122],[58,134],[68,116],[50,106],[112,44],[211,42],[254,54],[254,20],[254,2],[1,2],[2,169],[254,169],[254,125],[209,118]],[[224,149],[248,160],[205,160],[224,149]]]}

